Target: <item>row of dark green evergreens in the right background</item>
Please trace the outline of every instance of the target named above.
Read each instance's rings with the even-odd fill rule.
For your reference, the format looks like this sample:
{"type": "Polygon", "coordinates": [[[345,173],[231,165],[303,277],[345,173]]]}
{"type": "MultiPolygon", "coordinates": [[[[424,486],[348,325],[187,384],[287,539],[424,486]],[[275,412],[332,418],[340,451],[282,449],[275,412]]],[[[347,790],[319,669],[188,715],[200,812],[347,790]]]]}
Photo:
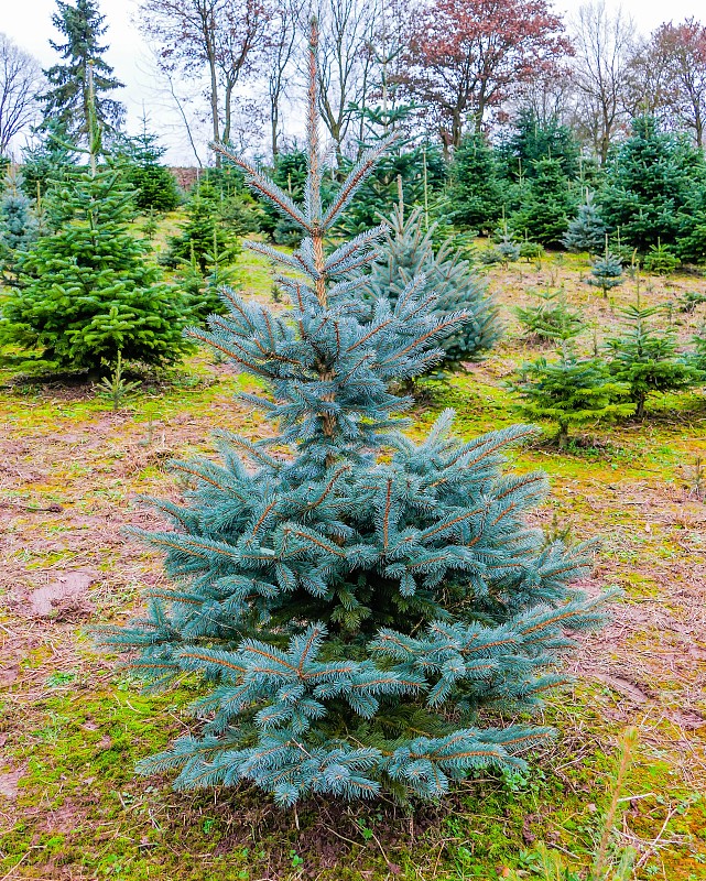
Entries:
{"type": "Polygon", "coordinates": [[[460,228],[492,231],[504,217],[519,241],[596,254],[608,235],[623,259],[658,247],[677,261],[706,258],[704,153],[649,116],[598,168],[568,128],[525,111],[499,145],[481,134],[464,141],[447,193],[460,228]]]}

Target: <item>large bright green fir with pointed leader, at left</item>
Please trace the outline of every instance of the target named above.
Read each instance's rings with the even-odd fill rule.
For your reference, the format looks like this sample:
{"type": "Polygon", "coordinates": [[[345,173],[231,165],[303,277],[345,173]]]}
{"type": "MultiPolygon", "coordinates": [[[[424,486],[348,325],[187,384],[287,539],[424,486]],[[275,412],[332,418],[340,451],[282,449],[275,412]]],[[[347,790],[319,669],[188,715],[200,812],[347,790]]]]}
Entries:
{"type": "Polygon", "coordinates": [[[56,231],[22,255],[2,333],[8,341],[41,347],[61,367],[101,371],[118,352],[170,363],[185,349],[186,303],[162,282],[146,260],[148,246],[131,232],[132,189],[102,156],[90,104],[89,113],[89,165],[50,191],[56,231]]]}

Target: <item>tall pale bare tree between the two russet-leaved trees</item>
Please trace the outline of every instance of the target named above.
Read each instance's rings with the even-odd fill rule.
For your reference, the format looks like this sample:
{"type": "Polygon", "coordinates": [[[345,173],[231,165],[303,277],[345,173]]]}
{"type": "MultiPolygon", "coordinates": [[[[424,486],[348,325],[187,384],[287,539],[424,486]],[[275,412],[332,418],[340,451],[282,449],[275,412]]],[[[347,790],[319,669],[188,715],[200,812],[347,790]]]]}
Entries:
{"type": "Polygon", "coordinates": [[[628,66],[634,54],[634,24],[618,9],[611,15],[604,0],[578,11],[573,35],[578,93],[576,127],[601,163],[626,122],[628,66]]]}

